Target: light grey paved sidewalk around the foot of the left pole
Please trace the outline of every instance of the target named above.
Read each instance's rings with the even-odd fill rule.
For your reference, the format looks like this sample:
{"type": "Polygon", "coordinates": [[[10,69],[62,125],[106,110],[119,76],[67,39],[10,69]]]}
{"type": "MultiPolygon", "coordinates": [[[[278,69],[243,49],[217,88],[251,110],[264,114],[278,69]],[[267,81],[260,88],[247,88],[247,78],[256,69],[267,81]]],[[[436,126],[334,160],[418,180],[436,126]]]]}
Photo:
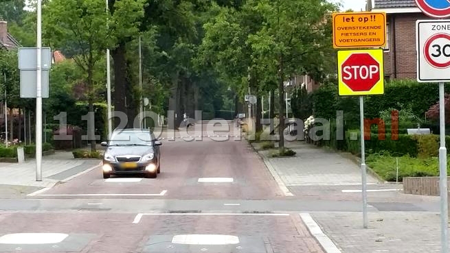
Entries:
{"type": "Polygon", "coordinates": [[[0,185],[52,187],[82,171],[100,165],[100,160],[74,159],[71,152],[43,156],[42,181],[36,181],[36,160],[24,163],[0,163],[0,185]]]}

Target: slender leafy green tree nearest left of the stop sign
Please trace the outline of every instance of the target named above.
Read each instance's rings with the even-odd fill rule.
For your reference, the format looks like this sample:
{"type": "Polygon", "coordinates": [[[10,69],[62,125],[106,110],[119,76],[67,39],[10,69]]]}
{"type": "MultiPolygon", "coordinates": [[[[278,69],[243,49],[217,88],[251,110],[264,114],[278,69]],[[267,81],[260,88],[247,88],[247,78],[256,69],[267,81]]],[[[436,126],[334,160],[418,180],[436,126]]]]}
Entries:
{"type": "MultiPolygon", "coordinates": [[[[247,3],[251,3],[248,1],[247,3]]],[[[260,64],[276,69],[280,106],[280,153],[284,153],[284,81],[305,73],[313,62],[326,62],[331,48],[330,13],[336,6],[324,0],[256,1],[264,26],[249,43],[260,64]]],[[[269,72],[270,73],[270,72],[269,72]]]]}

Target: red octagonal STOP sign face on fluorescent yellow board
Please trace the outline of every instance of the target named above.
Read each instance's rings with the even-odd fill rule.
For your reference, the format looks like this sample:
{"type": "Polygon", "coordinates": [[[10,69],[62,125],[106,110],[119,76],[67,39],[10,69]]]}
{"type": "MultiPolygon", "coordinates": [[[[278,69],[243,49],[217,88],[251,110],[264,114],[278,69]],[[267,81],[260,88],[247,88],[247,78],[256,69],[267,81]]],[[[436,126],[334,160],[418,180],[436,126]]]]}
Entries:
{"type": "Polygon", "coordinates": [[[352,53],[341,65],[341,81],[352,91],[370,91],[380,80],[380,64],[370,53],[352,53]]]}

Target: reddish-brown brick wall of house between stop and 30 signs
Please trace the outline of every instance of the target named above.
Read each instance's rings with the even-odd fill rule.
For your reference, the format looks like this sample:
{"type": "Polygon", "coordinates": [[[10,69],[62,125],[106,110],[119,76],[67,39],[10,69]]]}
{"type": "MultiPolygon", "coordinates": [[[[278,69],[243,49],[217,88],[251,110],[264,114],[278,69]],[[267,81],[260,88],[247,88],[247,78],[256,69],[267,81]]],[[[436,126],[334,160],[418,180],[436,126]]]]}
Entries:
{"type": "Polygon", "coordinates": [[[390,75],[391,79],[416,79],[416,20],[418,19],[428,18],[421,13],[390,14],[387,18],[390,24],[390,45],[389,51],[385,53],[385,75],[390,75]],[[394,60],[396,60],[396,76],[394,60]]]}

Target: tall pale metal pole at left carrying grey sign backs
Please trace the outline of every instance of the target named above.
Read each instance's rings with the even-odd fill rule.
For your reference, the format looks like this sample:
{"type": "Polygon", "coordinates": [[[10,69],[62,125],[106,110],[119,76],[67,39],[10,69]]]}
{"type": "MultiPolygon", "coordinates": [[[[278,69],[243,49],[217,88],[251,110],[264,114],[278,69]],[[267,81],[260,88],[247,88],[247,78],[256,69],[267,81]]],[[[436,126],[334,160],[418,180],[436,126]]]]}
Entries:
{"type": "Polygon", "coordinates": [[[41,53],[42,53],[42,0],[37,6],[37,80],[36,80],[36,181],[42,181],[42,84],[41,84],[41,53]]]}

